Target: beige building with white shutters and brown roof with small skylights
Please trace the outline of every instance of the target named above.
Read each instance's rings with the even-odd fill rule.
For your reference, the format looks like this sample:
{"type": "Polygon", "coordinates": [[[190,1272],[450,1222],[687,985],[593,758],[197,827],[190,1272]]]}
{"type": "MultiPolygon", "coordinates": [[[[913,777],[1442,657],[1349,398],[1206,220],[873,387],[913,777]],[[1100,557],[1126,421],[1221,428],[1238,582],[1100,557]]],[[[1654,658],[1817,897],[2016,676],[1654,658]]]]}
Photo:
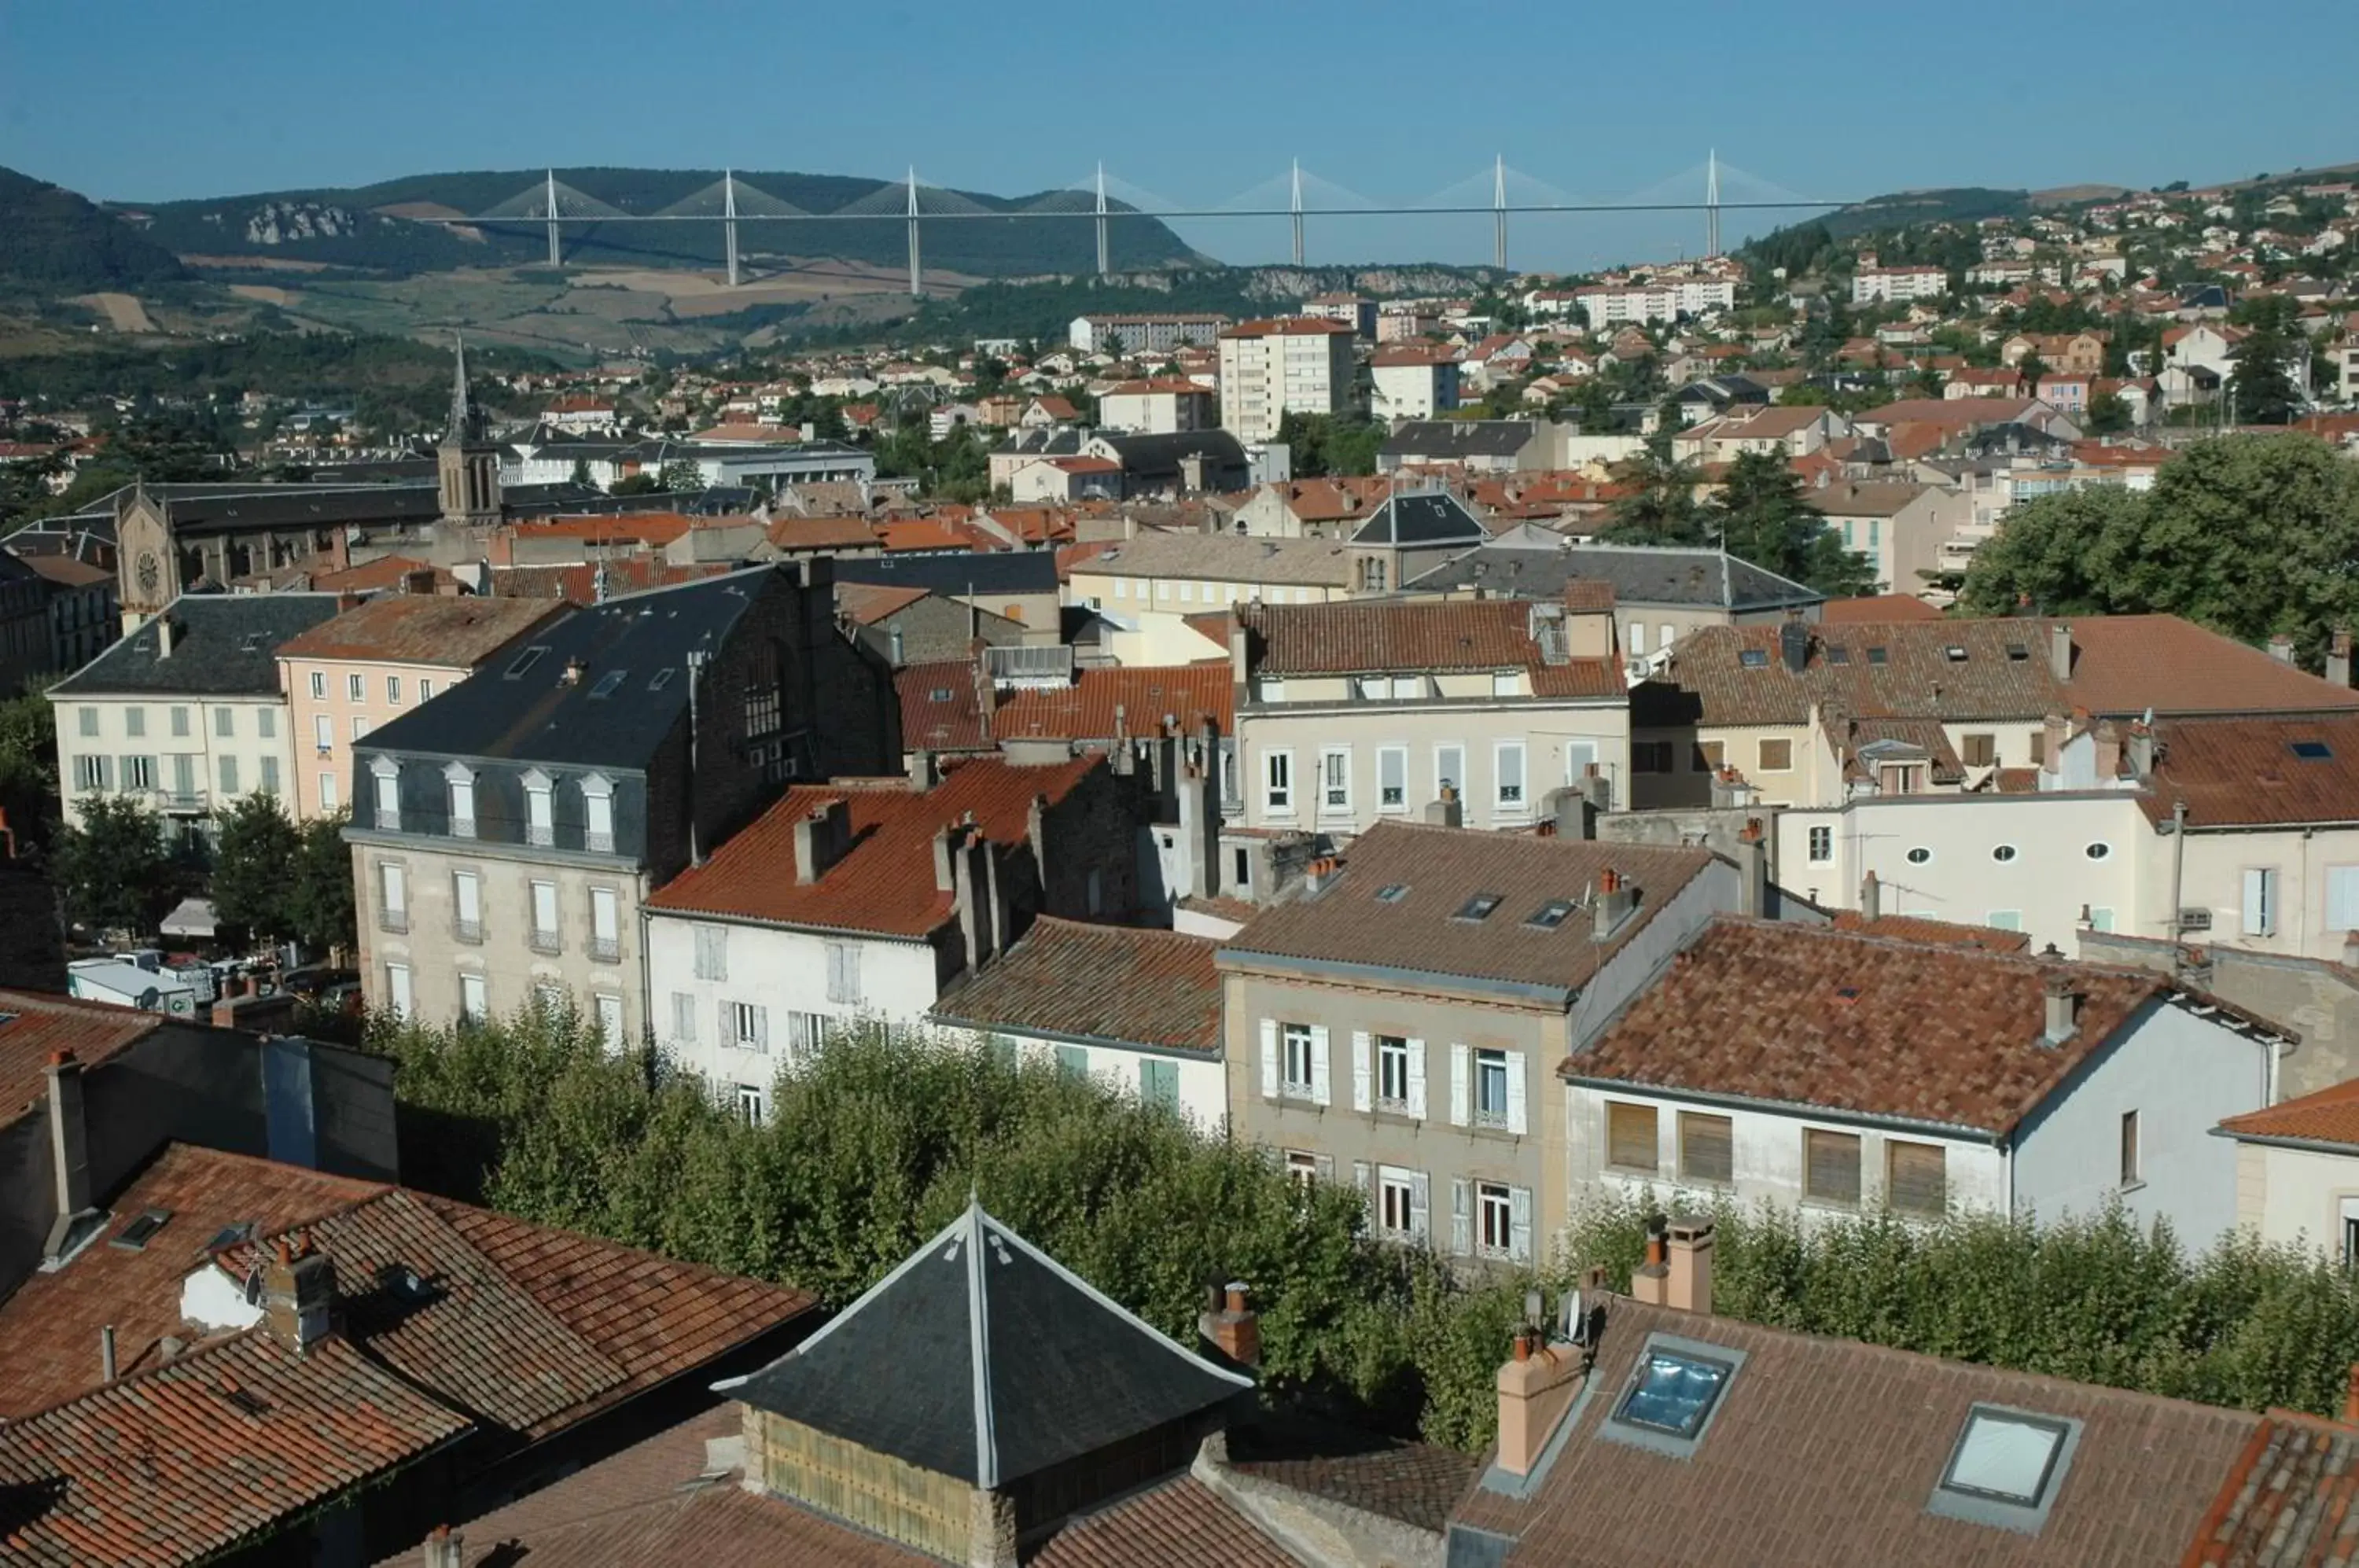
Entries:
{"type": "Polygon", "coordinates": [[[1387,1240],[1540,1264],[1569,1214],[1550,1070],[1741,882],[1701,849],[1385,823],[1215,957],[1231,1134],[1356,1181],[1387,1240]]]}

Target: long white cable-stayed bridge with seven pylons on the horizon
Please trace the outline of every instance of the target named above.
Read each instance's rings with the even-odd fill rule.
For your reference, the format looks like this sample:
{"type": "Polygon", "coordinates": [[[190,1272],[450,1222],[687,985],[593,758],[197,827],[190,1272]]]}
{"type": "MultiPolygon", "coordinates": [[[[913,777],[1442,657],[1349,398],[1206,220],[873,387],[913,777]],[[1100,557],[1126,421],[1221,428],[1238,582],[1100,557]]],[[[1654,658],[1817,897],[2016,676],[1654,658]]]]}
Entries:
{"type": "Polygon", "coordinates": [[[925,224],[972,222],[972,219],[1033,219],[1033,222],[1087,222],[1097,226],[1097,271],[1111,271],[1111,226],[1125,219],[1156,222],[1208,222],[1208,219],[1276,219],[1293,224],[1293,257],[1302,266],[1302,238],[1307,226],[1330,219],[1356,217],[1489,217],[1491,262],[1507,266],[1507,219],[1522,215],[1578,215],[1578,212],[1701,212],[1703,255],[1720,255],[1720,215],[1736,212],[1821,212],[1847,207],[1849,198],[1821,198],[1788,191],[1786,186],[1748,174],[1720,153],[1703,163],[1658,179],[1644,191],[1621,198],[1588,198],[1564,191],[1536,174],[1526,174],[1493,158],[1491,167],[1474,170],[1420,200],[1371,198],[1314,174],[1295,160],[1269,179],[1238,191],[1224,203],[1203,205],[1161,196],[1135,186],[1097,165],[1090,174],[1036,196],[1019,205],[986,205],[927,184],[911,167],[903,179],[880,184],[875,191],[854,198],[830,212],[811,212],[790,200],[762,191],[753,182],[738,179],[734,170],[722,172],[712,184],[691,191],[661,212],[625,212],[599,200],[557,177],[550,170],[540,182],[517,191],[502,203],[469,217],[429,217],[418,222],[448,226],[524,226],[547,229],[550,266],[564,266],[564,231],[604,224],[722,224],[722,250],[729,269],[729,288],[741,281],[738,229],[743,224],[828,224],[828,222],[892,222],[908,229],[908,292],[922,295],[925,224]],[[1734,191],[1734,196],[1729,196],[1734,191]]]}

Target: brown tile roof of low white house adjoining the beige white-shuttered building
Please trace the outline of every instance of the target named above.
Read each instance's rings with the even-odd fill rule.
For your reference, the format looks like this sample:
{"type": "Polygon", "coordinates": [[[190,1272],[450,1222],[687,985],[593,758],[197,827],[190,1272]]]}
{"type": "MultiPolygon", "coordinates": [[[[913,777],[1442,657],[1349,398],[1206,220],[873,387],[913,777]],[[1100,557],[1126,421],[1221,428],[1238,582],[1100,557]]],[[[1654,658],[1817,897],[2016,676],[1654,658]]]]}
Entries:
{"type": "Polygon", "coordinates": [[[1024,941],[948,990],[934,1016],[1220,1054],[1215,948],[1208,936],[1043,915],[1024,941]]]}

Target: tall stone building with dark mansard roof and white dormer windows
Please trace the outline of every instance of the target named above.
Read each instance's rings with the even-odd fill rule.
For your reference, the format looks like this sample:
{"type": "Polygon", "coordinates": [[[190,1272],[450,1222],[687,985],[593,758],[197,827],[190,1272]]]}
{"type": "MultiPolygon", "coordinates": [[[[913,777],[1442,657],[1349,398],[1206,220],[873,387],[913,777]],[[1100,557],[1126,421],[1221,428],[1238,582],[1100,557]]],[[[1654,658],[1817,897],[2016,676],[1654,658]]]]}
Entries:
{"type": "Polygon", "coordinates": [[[826,561],[538,627],[354,745],[368,1000],[436,1023],[573,1004],[644,1037],[646,896],[790,780],[894,769],[889,693],[826,561]]]}

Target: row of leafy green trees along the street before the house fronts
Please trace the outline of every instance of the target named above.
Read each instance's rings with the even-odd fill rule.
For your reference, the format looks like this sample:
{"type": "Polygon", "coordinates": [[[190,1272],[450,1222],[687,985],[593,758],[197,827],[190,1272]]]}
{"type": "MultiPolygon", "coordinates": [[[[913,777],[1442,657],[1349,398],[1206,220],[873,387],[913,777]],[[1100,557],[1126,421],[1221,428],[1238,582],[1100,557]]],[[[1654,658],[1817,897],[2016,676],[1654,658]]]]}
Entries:
{"type": "MultiPolygon", "coordinates": [[[[399,1061],[413,1184],[837,1309],[974,1191],[1182,1342],[1205,1283],[1248,1280],[1279,1398],[1467,1450],[1493,1436],[1529,1276],[1456,1280],[1371,1240],[1349,1186],[1302,1186],[1104,1080],[868,1028],[786,1070],[750,1127],[576,1016],[377,1019],[370,1042],[399,1061]]],[[[1644,1210],[1583,1210],[1548,1283],[1602,1264],[1621,1287],[1644,1210]]],[[[2333,1410],[2359,1361],[2359,1290],[2309,1252],[2239,1238],[2196,1257],[2118,1210],[2050,1228],[1864,1214],[1805,1231],[1724,1200],[1713,1217],[1715,1306],[1757,1323],[2243,1408],[2333,1410]]]]}

